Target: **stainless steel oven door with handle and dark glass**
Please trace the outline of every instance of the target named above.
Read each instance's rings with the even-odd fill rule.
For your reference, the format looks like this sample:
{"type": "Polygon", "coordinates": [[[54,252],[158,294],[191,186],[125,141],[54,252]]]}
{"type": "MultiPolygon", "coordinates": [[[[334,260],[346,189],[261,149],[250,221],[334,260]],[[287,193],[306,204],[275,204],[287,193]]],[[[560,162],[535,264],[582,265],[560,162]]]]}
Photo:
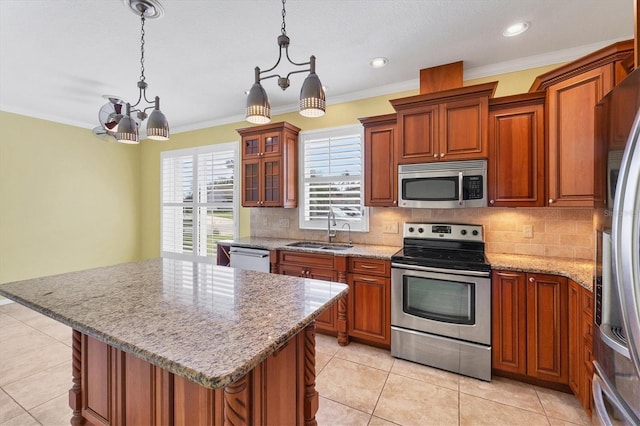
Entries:
{"type": "MultiPolygon", "coordinates": [[[[474,272],[470,272],[474,273],[474,272]]],[[[491,279],[394,263],[391,325],[491,344],[491,279]]]]}

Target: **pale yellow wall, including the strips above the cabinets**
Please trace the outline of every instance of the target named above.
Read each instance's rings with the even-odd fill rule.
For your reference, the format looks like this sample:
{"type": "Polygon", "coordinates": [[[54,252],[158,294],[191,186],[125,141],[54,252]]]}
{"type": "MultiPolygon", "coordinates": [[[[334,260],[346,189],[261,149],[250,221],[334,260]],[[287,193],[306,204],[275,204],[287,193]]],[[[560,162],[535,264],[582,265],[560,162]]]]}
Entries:
{"type": "MultiPolygon", "coordinates": [[[[465,85],[499,80],[496,96],[522,93],[552,68],[465,85]]],[[[389,99],[417,93],[331,105],[318,119],[297,112],[272,119],[303,130],[357,124],[359,117],[392,113],[389,99]]],[[[234,109],[241,112],[243,105],[234,109]]],[[[160,152],[237,141],[236,129],[248,126],[237,122],[131,146],[101,141],[87,129],[0,112],[0,283],[159,256],[160,152]]],[[[249,235],[249,216],[242,209],[242,236],[249,235]]]]}

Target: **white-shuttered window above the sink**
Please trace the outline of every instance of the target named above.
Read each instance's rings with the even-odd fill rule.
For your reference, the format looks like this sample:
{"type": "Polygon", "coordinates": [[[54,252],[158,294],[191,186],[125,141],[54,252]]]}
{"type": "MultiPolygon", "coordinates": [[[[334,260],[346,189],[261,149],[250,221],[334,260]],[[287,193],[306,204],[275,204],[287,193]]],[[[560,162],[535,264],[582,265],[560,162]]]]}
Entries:
{"type": "Polygon", "coordinates": [[[360,125],[300,133],[300,228],[326,229],[331,208],[337,229],[369,230],[362,141],[360,125]]]}

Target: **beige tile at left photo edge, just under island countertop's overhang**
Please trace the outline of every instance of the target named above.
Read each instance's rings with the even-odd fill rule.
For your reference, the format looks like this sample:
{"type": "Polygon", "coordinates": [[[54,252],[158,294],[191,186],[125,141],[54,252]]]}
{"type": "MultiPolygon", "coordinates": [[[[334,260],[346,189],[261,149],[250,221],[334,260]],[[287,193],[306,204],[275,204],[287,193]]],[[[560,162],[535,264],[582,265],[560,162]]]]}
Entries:
{"type": "Polygon", "coordinates": [[[71,360],[71,348],[39,333],[0,347],[0,386],[71,360]]]}

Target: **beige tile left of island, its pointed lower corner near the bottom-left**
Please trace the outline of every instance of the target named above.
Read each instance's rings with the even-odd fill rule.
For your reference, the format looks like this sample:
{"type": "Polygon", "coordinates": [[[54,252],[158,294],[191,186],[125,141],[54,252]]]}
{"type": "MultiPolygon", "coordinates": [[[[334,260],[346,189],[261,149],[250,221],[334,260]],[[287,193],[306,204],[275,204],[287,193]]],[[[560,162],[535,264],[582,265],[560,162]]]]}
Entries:
{"type": "Polygon", "coordinates": [[[30,410],[60,395],[67,395],[71,385],[69,358],[60,365],[7,384],[3,389],[18,404],[30,410]]]}

